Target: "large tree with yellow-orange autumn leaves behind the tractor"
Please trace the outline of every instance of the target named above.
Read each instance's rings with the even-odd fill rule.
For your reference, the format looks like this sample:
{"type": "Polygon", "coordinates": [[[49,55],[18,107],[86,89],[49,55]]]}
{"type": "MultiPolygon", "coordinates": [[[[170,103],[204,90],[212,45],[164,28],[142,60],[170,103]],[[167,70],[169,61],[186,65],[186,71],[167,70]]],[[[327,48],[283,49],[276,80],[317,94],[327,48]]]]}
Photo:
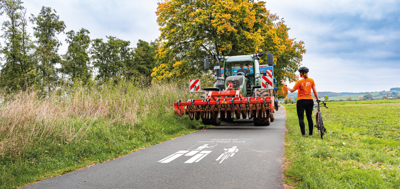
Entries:
{"type": "MultiPolygon", "coordinates": [[[[153,80],[187,79],[205,73],[203,60],[207,55],[253,54],[259,48],[274,54],[276,78],[297,80],[295,71],[306,52],[304,43],[289,38],[289,28],[265,4],[255,0],[158,3],[156,14],[162,42],[153,80]]],[[[287,91],[281,90],[279,82],[278,88],[279,98],[286,97],[287,91]]]]}

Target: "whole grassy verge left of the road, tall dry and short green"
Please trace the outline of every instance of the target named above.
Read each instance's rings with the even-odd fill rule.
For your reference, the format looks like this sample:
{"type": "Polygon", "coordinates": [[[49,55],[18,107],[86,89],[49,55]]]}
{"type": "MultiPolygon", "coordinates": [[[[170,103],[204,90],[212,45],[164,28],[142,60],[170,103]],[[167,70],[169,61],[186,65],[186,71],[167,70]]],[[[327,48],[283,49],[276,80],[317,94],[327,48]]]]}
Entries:
{"type": "MultiPolygon", "coordinates": [[[[179,119],[173,102],[196,98],[183,85],[118,81],[2,94],[0,188],[102,163],[204,127],[179,119]]],[[[197,97],[198,98],[198,97],[197,97]]]]}

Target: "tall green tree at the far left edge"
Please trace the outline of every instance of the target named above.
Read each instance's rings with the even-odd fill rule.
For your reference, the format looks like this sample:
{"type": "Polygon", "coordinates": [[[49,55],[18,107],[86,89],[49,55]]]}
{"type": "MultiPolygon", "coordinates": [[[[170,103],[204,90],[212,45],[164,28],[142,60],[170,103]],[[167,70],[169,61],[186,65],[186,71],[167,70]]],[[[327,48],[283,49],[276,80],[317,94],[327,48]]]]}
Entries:
{"type": "Polygon", "coordinates": [[[4,47],[0,52],[4,54],[0,73],[0,86],[10,87],[13,90],[25,90],[34,84],[35,61],[32,53],[34,44],[27,32],[28,19],[26,9],[20,0],[0,1],[0,15],[6,14],[8,20],[3,22],[2,38],[4,47]]]}

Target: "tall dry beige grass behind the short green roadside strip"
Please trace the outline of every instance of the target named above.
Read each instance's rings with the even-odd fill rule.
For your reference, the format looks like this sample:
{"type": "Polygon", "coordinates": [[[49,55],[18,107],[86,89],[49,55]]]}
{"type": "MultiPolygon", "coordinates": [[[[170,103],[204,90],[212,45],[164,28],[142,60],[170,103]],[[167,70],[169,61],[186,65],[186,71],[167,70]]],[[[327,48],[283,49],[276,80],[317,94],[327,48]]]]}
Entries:
{"type": "Polygon", "coordinates": [[[187,84],[144,80],[90,81],[60,86],[42,96],[30,89],[0,92],[0,155],[16,154],[38,142],[81,140],[92,127],[131,127],[172,114],[178,99],[198,98],[187,84]]]}

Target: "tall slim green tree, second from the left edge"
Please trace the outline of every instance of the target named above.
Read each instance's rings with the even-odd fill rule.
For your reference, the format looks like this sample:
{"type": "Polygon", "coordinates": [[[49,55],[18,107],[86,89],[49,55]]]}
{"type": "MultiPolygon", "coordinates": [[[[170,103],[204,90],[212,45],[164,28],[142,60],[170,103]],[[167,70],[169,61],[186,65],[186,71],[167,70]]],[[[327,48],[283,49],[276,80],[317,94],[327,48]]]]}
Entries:
{"type": "Polygon", "coordinates": [[[36,37],[36,56],[38,57],[38,74],[40,73],[40,82],[43,86],[51,90],[51,84],[58,80],[56,64],[61,62],[58,55],[58,48],[61,42],[57,34],[64,32],[64,21],[59,20],[56,10],[50,7],[42,7],[38,16],[31,14],[30,21],[36,24],[33,27],[36,37]]]}

